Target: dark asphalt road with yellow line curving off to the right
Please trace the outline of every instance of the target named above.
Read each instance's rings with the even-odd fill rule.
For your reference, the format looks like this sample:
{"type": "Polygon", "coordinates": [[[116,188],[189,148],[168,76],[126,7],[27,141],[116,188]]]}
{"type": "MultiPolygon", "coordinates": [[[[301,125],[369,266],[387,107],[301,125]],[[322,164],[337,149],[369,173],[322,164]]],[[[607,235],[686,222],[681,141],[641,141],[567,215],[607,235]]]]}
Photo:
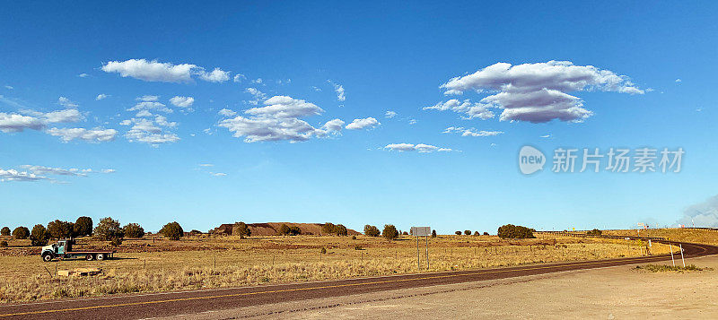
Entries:
{"type": "MultiPolygon", "coordinates": [[[[678,245],[678,243],[675,243],[678,245]]],[[[718,246],[683,243],[686,257],[718,254],[718,246]]],[[[680,259],[680,257],[677,257],[680,259]]],[[[551,272],[592,269],[669,260],[653,255],[561,264],[535,264],[461,272],[432,272],[396,276],[267,285],[220,290],[193,290],[82,298],[0,305],[0,319],[138,319],[196,314],[210,310],[261,306],[311,298],[330,298],[383,290],[408,289],[468,281],[486,281],[551,272]]]]}

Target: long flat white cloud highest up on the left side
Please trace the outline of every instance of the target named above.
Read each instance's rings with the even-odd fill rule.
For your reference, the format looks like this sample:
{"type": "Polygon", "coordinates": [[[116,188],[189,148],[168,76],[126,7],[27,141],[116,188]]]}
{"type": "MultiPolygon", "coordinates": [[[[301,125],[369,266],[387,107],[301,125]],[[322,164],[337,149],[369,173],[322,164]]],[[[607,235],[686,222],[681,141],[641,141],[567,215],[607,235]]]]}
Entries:
{"type": "Polygon", "coordinates": [[[145,82],[193,82],[193,75],[206,82],[225,82],[229,80],[229,72],[215,68],[207,73],[205,68],[191,64],[173,65],[157,60],[129,59],[126,61],[110,61],[102,65],[102,71],[117,73],[123,78],[131,77],[145,82]]]}

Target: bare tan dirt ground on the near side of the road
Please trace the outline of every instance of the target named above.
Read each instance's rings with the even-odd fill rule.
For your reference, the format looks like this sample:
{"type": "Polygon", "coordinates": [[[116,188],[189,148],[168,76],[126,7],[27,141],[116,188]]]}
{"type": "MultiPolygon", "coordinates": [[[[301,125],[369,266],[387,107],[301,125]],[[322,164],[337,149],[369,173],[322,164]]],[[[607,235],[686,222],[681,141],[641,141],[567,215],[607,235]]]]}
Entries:
{"type": "Polygon", "coordinates": [[[185,317],[718,318],[718,296],[715,294],[718,292],[718,256],[689,259],[687,264],[714,270],[652,273],[636,272],[634,266],[617,266],[288,302],[185,317]]]}

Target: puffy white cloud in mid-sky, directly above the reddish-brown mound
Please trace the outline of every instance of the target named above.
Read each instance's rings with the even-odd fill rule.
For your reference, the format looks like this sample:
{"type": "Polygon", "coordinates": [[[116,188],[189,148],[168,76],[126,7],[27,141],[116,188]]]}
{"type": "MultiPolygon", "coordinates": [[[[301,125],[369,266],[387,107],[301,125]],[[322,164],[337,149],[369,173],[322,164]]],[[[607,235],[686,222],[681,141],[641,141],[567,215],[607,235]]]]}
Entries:
{"type": "Polygon", "coordinates": [[[303,99],[274,96],[264,101],[265,106],[250,108],[244,113],[220,121],[235,137],[244,137],[246,143],[287,140],[292,143],[309,140],[312,136],[325,136],[327,131],[315,128],[299,117],[319,115],[322,110],[303,99]]]}

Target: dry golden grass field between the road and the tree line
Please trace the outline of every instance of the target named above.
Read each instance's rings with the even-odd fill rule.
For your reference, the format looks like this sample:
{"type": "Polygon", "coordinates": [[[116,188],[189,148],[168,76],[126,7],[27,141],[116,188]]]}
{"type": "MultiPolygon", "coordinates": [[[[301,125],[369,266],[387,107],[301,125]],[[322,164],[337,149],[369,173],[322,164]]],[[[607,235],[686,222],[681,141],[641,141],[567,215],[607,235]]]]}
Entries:
{"type": "MultiPolygon", "coordinates": [[[[495,236],[429,238],[429,271],[467,270],[645,255],[640,241],[537,235],[524,240],[495,236]]],[[[11,246],[18,243],[11,243],[11,246]]],[[[81,239],[81,246],[104,243],[81,239]]],[[[420,261],[425,272],[424,239],[420,261]]],[[[43,263],[22,248],[0,248],[0,302],[118,293],[196,290],[292,281],[319,281],[417,272],[416,240],[352,237],[144,238],[126,240],[117,258],[103,262],[43,263]],[[322,248],[326,253],[322,253],[322,248]],[[21,254],[18,254],[21,252],[21,254]],[[14,253],[14,254],[13,254],[14,253]],[[15,255],[15,256],[13,256],[15,255]],[[57,270],[100,267],[92,277],[57,277],[57,270]]],[[[653,244],[652,254],[668,253],[653,244]]]]}

